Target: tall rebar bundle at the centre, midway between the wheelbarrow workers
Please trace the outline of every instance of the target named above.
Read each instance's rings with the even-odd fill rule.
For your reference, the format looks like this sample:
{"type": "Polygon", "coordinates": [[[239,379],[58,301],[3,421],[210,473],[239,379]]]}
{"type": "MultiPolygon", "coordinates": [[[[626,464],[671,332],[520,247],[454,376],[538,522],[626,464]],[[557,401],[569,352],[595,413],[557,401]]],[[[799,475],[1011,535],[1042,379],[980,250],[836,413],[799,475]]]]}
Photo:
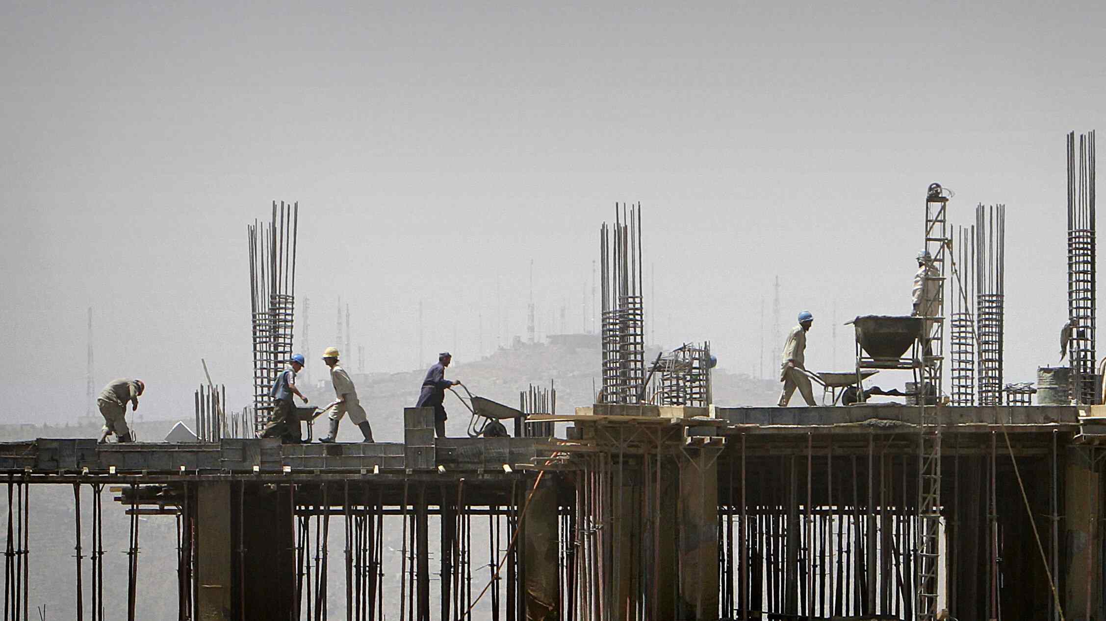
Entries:
{"type": "Polygon", "coordinates": [[[601,403],[636,403],[645,379],[640,204],[615,204],[614,227],[604,223],[599,230],[599,259],[603,392],[598,400],[601,403]]]}

